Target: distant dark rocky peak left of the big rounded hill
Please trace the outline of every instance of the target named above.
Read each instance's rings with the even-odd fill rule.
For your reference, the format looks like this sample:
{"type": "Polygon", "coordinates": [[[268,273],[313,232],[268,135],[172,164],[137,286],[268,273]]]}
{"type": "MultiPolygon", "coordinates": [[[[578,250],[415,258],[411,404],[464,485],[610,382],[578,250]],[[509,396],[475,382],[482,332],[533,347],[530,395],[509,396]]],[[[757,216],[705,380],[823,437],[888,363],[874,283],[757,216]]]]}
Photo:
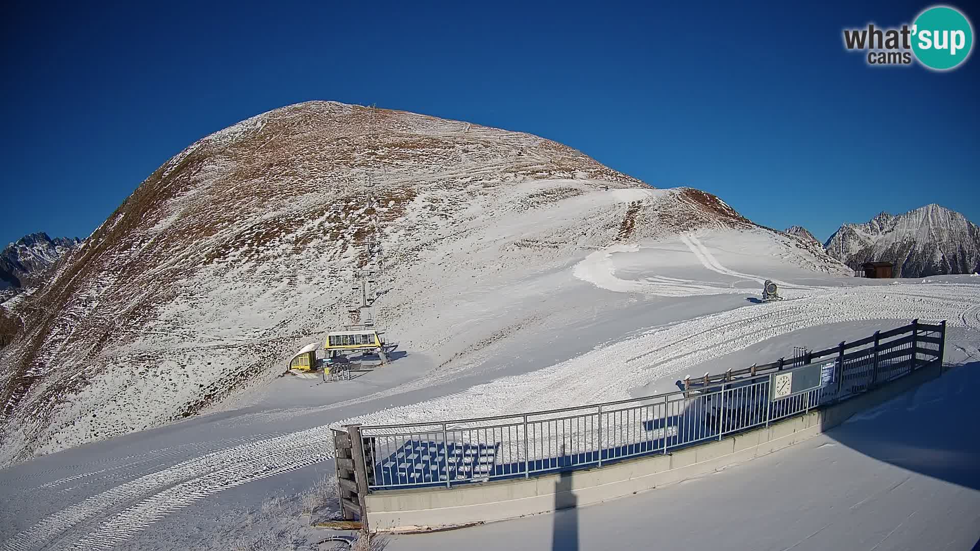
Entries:
{"type": "Polygon", "coordinates": [[[29,233],[0,251],[0,297],[36,284],[45,273],[81,241],[77,237],[48,237],[43,231],[29,233]]]}

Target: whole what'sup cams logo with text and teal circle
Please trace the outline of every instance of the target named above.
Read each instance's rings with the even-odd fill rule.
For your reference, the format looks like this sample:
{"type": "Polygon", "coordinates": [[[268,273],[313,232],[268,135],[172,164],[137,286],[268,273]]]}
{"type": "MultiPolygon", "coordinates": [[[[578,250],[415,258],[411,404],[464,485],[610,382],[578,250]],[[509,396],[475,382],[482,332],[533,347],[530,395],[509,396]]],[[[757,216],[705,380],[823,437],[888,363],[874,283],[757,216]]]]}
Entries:
{"type": "Polygon", "coordinates": [[[973,49],[973,26],[959,10],[933,6],[898,28],[844,29],[844,47],[866,51],[868,65],[911,65],[946,71],[960,66],[973,49]]]}

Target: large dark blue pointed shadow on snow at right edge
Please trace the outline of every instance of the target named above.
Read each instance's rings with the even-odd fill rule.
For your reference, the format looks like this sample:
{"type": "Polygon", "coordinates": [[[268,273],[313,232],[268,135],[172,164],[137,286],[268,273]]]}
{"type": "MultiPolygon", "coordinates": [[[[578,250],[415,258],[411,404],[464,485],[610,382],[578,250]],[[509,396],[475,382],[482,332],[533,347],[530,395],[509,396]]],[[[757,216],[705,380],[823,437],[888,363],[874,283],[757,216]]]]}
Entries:
{"type": "Polygon", "coordinates": [[[980,490],[978,391],[980,362],[945,368],[826,435],[878,461],[980,490]]]}

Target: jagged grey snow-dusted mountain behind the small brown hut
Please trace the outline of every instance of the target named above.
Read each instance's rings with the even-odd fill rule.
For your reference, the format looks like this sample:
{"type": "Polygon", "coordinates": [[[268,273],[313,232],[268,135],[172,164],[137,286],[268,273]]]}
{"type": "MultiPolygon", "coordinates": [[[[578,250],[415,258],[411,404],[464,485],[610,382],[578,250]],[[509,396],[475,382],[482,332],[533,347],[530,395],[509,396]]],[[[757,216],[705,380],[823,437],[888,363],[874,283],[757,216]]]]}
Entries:
{"type": "Polygon", "coordinates": [[[842,225],[825,248],[855,270],[865,262],[894,262],[901,277],[980,270],[980,228],[935,204],[898,216],[881,213],[866,224],[842,225]]]}

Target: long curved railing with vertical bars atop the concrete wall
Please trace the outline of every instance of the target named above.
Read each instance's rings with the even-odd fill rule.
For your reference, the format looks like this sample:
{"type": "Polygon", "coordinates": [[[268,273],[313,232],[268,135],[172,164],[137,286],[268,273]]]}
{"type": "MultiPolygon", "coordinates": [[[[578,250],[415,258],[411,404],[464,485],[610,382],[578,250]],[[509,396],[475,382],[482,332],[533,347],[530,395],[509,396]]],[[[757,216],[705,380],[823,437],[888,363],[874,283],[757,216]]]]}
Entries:
{"type": "Polygon", "coordinates": [[[916,320],[806,352],[792,362],[780,359],[688,378],[684,389],[675,392],[509,416],[347,429],[363,442],[355,460],[364,469],[368,492],[602,467],[768,426],[941,364],[945,335],[946,322],[916,320]],[[816,363],[821,364],[818,387],[770,398],[772,374],[816,363]]]}

